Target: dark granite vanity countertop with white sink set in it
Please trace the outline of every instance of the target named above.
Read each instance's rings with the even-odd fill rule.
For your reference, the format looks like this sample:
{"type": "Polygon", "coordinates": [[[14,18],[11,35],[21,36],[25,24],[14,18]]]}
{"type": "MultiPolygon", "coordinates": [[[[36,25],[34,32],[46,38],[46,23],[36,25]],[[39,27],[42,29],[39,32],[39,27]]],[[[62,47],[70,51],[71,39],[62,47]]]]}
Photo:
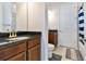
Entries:
{"type": "Polygon", "coordinates": [[[32,40],[33,38],[37,38],[37,37],[40,37],[40,36],[39,35],[22,35],[22,36],[16,37],[20,39],[14,39],[14,40],[12,40],[12,39],[10,40],[10,38],[1,38],[0,48],[4,48],[5,46],[13,46],[13,44],[19,43],[19,41],[21,41],[21,40],[32,40]]]}

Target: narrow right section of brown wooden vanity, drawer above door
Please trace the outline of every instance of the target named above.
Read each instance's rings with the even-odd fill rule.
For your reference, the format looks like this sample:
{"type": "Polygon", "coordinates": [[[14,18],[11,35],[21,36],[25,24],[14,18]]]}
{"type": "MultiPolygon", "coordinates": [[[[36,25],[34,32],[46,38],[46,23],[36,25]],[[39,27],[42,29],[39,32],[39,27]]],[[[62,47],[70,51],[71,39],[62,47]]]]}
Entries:
{"type": "Polygon", "coordinates": [[[40,39],[39,38],[35,38],[28,41],[27,60],[40,61],[40,39]]]}

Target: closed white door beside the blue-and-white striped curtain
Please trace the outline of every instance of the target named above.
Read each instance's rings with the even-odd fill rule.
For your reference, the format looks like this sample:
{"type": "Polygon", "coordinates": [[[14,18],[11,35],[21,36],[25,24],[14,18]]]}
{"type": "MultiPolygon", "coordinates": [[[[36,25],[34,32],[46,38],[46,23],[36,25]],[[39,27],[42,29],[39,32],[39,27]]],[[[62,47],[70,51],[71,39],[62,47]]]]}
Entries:
{"type": "Polygon", "coordinates": [[[59,44],[77,49],[77,4],[60,5],[59,44]]]}

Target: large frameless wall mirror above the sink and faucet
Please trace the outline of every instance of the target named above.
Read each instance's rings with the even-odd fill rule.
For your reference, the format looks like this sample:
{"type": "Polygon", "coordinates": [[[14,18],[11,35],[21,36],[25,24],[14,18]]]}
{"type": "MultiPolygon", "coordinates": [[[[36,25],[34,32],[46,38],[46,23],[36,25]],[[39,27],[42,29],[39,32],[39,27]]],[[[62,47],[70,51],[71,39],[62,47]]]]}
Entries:
{"type": "Polygon", "coordinates": [[[27,2],[0,2],[0,33],[27,31],[27,2]]]}

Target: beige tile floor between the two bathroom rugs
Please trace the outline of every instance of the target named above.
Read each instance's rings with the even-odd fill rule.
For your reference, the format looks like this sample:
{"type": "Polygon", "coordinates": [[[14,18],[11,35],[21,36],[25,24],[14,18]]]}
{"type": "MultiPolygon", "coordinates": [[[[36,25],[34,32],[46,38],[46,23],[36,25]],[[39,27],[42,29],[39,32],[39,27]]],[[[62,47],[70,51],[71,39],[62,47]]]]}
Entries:
{"type": "Polygon", "coordinates": [[[65,53],[66,53],[66,48],[65,47],[58,47],[58,48],[56,48],[53,53],[62,55],[61,61],[73,61],[73,60],[70,60],[70,59],[65,57],[65,53]]]}

